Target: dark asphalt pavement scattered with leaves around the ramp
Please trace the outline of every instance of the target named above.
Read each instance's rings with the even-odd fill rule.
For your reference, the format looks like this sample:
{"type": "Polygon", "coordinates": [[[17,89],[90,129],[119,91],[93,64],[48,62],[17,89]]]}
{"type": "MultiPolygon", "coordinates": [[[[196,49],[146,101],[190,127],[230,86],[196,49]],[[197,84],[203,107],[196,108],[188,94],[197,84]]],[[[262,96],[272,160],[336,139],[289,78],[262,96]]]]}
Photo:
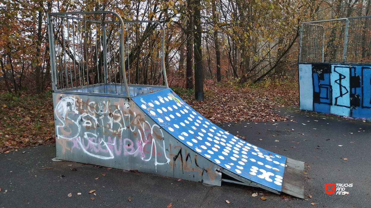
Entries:
{"type": "Polygon", "coordinates": [[[371,207],[371,123],[300,112],[298,107],[276,112],[287,121],[218,125],[253,145],[305,162],[305,199],[224,182],[207,187],[177,178],[54,162],[55,145],[42,145],[0,154],[0,208],[167,208],[170,203],[171,208],[371,207]],[[325,184],[347,184],[338,190],[347,194],[326,194],[325,184]],[[91,190],[95,191],[89,194],[91,190]],[[253,193],[258,195],[252,197],[253,193]]]}

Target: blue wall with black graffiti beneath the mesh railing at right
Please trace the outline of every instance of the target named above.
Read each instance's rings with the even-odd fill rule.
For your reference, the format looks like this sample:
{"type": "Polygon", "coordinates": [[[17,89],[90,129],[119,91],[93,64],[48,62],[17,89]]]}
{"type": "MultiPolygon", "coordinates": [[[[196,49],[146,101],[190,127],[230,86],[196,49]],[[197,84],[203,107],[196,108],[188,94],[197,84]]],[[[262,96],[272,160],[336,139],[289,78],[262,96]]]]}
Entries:
{"type": "Polygon", "coordinates": [[[300,109],[371,121],[371,66],[299,64],[300,109]]]}

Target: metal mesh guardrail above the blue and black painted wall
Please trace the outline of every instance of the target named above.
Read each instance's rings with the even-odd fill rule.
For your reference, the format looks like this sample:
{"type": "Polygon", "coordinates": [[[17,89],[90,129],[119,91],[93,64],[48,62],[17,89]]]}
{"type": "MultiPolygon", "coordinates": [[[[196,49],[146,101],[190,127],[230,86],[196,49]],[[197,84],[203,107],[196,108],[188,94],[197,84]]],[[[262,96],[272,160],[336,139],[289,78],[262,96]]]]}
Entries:
{"type": "Polygon", "coordinates": [[[299,63],[371,63],[371,16],[301,23],[299,63]]]}

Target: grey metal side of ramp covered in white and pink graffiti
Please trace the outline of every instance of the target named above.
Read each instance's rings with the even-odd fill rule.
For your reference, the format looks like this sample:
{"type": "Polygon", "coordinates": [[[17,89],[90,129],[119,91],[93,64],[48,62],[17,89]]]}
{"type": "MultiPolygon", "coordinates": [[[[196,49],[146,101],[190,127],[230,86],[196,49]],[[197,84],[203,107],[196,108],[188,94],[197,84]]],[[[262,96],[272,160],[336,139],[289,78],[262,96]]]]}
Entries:
{"type": "Polygon", "coordinates": [[[221,184],[214,162],[164,131],[134,101],[53,93],[53,103],[60,160],[221,184]]]}

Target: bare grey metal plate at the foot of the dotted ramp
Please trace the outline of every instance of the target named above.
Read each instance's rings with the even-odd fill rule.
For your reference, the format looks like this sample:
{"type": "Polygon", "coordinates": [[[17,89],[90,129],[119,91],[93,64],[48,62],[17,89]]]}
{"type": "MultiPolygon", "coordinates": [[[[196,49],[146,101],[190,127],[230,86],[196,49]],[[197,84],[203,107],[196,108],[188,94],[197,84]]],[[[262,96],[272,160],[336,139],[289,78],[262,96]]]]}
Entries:
{"type": "Polygon", "coordinates": [[[304,162],[286,159],[285,173],[283,174],[282,192],[294,197],[304,198],[304,162]]]}

